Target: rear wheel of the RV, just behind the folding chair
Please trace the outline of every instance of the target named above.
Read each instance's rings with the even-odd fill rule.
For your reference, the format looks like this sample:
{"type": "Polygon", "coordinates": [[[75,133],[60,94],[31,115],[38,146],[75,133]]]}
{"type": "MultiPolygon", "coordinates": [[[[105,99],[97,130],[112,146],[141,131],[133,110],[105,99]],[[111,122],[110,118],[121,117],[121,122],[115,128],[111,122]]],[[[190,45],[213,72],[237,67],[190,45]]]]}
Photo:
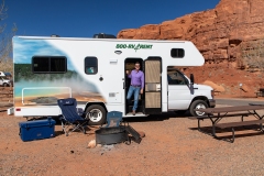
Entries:
{"type": "Polygon", "coordinates": [[[86,109],[85,119],[89,119],[88,124],[90,125],[101,125],[106,122],[106,109],[99,105],[89,106],[86,109]]]}

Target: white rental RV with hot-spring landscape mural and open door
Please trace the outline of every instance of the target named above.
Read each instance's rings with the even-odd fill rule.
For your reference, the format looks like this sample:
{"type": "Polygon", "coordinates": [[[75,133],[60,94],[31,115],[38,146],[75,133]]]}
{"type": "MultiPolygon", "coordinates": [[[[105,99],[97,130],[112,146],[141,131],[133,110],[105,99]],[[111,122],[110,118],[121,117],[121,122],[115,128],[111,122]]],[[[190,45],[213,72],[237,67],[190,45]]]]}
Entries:
{"type": "MultiPolygon", "coordinates": [[[[14,114],[57,117],[57,99],[76,98],[90,124],[101,124],[110,111],[133,117],[127,101],[125,72],[141,64],[144,92],[135,117],[215,107],[213,89],[194,84],[179,70],[201,66],[205,58],[189,41],[14,36],[14,114]]],[[[133,103],[133,101],[132,101],[133,103]]]]}

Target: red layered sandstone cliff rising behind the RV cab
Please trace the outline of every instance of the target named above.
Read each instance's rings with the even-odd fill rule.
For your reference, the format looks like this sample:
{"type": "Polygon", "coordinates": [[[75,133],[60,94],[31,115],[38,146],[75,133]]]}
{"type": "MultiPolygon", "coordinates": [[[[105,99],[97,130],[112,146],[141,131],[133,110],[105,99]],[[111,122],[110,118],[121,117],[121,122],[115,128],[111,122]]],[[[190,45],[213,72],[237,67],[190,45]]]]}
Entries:
{"type": "MultiPolygon", "coordinates": [[[[242,56],[264,41],[263,0],[221,0],[211,10],[122,30],[118,38],[194,42],[206,63],[187,68],[186,74],[194,73],[196,82],[209,81],[222,87],[222,96],[255,97],[255,91],[264,87],[262,72],[242,56]]],[[[264,52],[264,44],[261,45],[264,52]]]]}

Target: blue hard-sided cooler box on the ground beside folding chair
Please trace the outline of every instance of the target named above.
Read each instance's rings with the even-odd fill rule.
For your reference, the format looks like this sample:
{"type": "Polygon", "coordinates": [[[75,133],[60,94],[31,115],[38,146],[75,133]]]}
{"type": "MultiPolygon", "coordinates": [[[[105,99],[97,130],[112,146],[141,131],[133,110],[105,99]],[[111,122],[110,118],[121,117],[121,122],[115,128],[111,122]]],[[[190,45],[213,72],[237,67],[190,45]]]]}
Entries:
{"type": "Polygon", "coordinates": [[[55,120],[52,118],[48,118],[46,120],[20,122],[19,125],[20,138],[22,141],[50,139],[55,135],[55,120]]]}

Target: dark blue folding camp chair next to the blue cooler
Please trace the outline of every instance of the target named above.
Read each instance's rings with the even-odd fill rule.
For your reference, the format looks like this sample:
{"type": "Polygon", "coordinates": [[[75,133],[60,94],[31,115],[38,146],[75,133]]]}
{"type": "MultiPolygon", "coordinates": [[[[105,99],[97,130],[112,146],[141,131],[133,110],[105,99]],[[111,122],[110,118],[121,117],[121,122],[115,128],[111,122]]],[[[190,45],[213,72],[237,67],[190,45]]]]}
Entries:
{"type": "Polygon", "coordinates": [[[57,105],[62,110],[62,116],[59,118],[62,122],[63,131],[66,135],[69,132],[80,130],[86,133],[86,124],[88,120],[81,118],[77,112],[77,101],[75,98],[58,99],[57,105]],[[69,128],[73,127],[70,130],[69,128]]]}

